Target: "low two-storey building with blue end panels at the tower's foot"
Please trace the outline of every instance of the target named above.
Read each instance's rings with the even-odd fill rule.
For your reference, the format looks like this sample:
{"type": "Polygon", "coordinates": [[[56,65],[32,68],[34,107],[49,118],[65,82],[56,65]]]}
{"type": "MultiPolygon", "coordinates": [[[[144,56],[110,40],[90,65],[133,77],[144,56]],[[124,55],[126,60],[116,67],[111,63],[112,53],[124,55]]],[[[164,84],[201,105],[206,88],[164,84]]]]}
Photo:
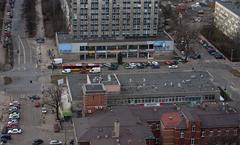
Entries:
{"type": "Polygon", "coordinates": [[[75,60],[115,59],[120,52],[123,58],[153,59],[174,50],[174,41],[167,33],[131,39],[77,39],[59,33],[56,34],[56,44],[62,58],[75,60]]]}

